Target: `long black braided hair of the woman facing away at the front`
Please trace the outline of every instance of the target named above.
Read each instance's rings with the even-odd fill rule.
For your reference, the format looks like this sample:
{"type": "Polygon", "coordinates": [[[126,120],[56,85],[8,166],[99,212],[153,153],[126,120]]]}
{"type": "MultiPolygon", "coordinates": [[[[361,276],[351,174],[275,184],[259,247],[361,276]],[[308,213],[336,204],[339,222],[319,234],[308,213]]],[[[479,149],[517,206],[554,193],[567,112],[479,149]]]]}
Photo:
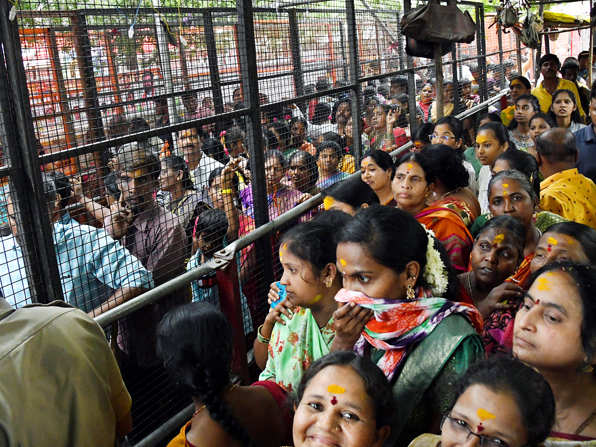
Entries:
{"type": "Polygon", "coordinates": [[[209,410],[210,417],[243,446],[253,446],[222,396],[231,387],[232,328],[206,302],[167,312],[157,327],[157,355],[170,378],[209,410]]]}

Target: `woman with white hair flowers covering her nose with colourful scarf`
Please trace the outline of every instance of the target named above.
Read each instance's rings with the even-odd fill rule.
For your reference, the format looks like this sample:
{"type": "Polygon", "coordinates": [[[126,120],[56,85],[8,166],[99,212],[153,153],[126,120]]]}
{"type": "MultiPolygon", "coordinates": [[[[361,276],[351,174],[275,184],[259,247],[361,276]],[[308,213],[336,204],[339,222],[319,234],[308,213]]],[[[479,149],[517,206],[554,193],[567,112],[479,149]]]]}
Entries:
{"type": "Polygon", "coordinates": [[[438,433],[449,400],[440,378],[484,357],[480,315],[446,299],[457,280],[437,246],[414,216],[390,207],[361,210],[339,235],[344,288],[332,350],[370,357],[391,381],[397,411],[386,446],[438,433]]]}

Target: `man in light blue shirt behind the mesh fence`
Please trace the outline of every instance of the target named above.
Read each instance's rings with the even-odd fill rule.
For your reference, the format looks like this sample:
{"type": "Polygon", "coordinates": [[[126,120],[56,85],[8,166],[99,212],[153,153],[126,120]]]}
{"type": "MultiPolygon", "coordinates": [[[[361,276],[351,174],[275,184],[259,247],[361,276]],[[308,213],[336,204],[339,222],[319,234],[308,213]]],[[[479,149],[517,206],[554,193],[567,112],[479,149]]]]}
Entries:
{"type": "MultiPolygon", "coordinates": [[[[64,210],[70,198],[66,176],[60,172],[43,176],[64,300],[97,316],[153,287],[151,273],[119,242],[103,229],[70,218],[64,210]]],[[[20,307],[31,298],[10,194],[7,205],[13,235],[0,238],[0,287],[5,299],[20,307]]]]}

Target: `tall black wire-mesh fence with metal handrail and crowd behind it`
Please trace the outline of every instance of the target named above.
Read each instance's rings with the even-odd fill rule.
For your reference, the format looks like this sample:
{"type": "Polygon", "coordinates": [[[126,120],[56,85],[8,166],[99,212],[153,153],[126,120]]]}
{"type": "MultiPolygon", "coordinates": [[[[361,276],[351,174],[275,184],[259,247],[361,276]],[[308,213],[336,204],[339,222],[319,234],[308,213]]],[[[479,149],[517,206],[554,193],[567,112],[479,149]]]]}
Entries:
{"type": "MultiPolygon", "coordinates": [[[[280,234],[365,150],[395,156],[436,119],[434,64],[405,53],[408,0],[25,5],[0,14],[2,293],[95,316],[134,402],[128,443],[157,445],[190,403],[154,358],[159,318],[190,299],[220,305],[247,380],[280,234]]],[[[444,111],[465,117],[472,144],[477,112],[523,69],[482,4],[460,7],[476,39],[443,58],[444,111]]]]}

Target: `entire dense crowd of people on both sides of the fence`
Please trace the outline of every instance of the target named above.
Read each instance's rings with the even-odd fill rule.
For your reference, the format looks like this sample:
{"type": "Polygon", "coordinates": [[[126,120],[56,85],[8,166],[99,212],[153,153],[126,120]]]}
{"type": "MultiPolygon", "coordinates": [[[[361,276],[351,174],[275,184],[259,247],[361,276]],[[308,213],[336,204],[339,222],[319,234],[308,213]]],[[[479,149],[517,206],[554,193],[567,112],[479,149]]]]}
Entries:
{"type": "MultiPolygon", "coordinates": [[[[241,120],[114,148],[101,200],[42,173],[65,303],[32,304],[7,191],[0,440],[136,442],[163,422],[147,407],[171,412],[167,374],[195,409],[169,447],[596,446],[596,88],[579,56],[544,55],[533,89],[511,64],[489,67],[486,88],[508,86],[509,103],[464,120],[453,114],[480,103],[476,67],[446,80],[443,117],[432,77],[415,111],[395,77],[364,89],[362,116],[325,96],[325,79],[304,111],[263,114],[269,218],[323,200],[278,234],[268,296],[256,249],[232,260],[260,371],[250,385],[233,380],[216,272],[106,333],[91,318],[254,229],[260,173],[241,120]]],[[[185,105],[187,119],[207,116],[192,95],[185,105]]]]}

